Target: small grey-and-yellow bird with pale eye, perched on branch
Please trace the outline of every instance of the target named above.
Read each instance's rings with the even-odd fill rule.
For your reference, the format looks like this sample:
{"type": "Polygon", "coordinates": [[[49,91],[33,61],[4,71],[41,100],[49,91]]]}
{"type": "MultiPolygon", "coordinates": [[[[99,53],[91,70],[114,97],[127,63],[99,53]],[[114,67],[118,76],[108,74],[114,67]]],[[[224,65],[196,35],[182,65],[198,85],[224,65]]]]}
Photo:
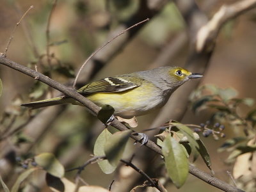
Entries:
{"type": "MultiPolygon", "coordinates": [[[[200,77],[202,74],[191,73],[182,67],[159,67],[106,77],[86,84],[77,92],[98,106],[106,104],[113,106],[116,116],[132,118],[161,108],[180,85],[189,79],[200,77]]],[[[29,102],[22,106],[36,109],[67,103],[80,104],[70,97],[61,96],[29,102]]]]}

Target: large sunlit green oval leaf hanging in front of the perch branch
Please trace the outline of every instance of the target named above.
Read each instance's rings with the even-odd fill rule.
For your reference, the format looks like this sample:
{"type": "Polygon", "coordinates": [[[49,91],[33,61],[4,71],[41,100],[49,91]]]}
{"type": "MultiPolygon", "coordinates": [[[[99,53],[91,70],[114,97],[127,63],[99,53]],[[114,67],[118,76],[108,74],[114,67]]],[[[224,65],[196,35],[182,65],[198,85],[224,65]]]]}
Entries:
{"type": "Polygon", "coordinates": [[[189,164],[184,149],[178,141],[167,136],[163,142],[162,152],[165,166],[173,184],[180,188],[188,177],[189,164]]]}

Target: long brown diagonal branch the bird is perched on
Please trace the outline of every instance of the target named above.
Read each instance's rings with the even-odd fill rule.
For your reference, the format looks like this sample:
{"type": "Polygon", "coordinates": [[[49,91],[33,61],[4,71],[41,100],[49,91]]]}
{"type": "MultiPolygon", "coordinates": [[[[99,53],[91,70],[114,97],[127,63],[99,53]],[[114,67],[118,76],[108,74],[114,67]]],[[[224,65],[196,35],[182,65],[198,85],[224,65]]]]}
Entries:
{"type": "MultiPolygon", "coordinates": [[[[38,81],[41,81],[41,82],[51,86],[52,88],[59,90],[60,92],[64,93],[65,95],[68,95],[69,97],[72,97],[73,99],[76,99],[77,101],[81,102],[81,104],[86,106],[86,108],[88,108],[90,113],[92,113],[94,116],[96,116],[97,113],[99,112],[99,109],[100,109],[99,106],[93,104],[93,102],[91,102],[90,100],[86,99],[85,97],[83,97],[82,95],[77,93],[76,90],[67,88],[63,84],[60,84],[60,83],[52,80],[51,78],[44,76],[43,74],[40,74],[39,72],[36,72],[35,70],[32,70],[25,66],[22,66],[19,63],[15,63],[14,61],[8,60],[7,58],[4,58],[3,56],[0,56],[0,63],[7,67],[13,68],[14,70],[18,70],[19,72],[26,74],[30,77],[38,79],[38,81]]],[[[125,125],[118,122],[118,120],[116,120],[116,119],[113,120],[111,125],[113,127],[115,127],[116,129],[118,129],[119,131],[127,130],[127,127],[125,127],[125,125]]],[[[131,134],[130,137],[138,142],[141,141],[140,136],[131,134]]],[[[150,148],[151,150],[154,150],[154,152],[156,152],[157,154],[163,155],[161,152],[161,148],[158,145],[156,145],[156,143],[154,143],[153,141],[148,140],[148,143],[145,146],[150,148]]],[[[219,188],[223,191],[228,191],[228,192],[242,192],[243,191],[234,186],[231,186],[230,184],[227,184],[226,182],[223,182],[222,180],[219,180],[215,177],[212,177],[211,175],[209,175],[207,173],[204,173],[204,172],[198,170],[193,165],[189,165],[189,173],[191,173],[192,175],[195,175],[196,177],[198,177],[198,179],[202,179],[202,180],[204,180],[204,182],[207,182],[208,184],[211,184],[212,186],[219,188]]]]}

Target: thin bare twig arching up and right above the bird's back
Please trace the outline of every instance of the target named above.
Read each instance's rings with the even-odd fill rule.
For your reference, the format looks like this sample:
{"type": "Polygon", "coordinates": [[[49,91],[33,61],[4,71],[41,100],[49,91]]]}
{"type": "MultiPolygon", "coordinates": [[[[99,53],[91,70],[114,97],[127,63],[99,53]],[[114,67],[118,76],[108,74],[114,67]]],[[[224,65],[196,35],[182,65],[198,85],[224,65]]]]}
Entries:
{"type": "Polygon", "coordinates": [[[146,22],[146,21],[148,21],[148,20],[149,20],[148,18],[145,19],[145,20],[142,20],[141,22],[138,22],[138,23],[134,24],[133,26],[131,26],[131,27],[129,27],[129,28],[127,28],[127,29],[121,31],[118,35],[114,36],[113,38],[111,38],[111,40],[109,40],[109,41],[106,42],[104,45],[102,45],[99,49],[97,49],[96,51],[94,51],[94,52],[87,58],[87,60],[84,61],[83,65],[79,68],[79,71],[77,72],[76,79],[75,79],[75,81],[74,81],[74,83],[73,83],[73,88],[76,86],[77,79],[78,79],[78,77],[79,77],[79,75],[80,75],[82,69],[84,68],[84,65],[86,65],[86,63],[87,63],[95,54],[97,54],[97,52],[99,52],[102,48],[104,48],[104,47],[105,47],[106,45],[108,45],[110,42],[112,42],[113,40],[115,40],[116,38],[118,38],[118,36],[123,35],[126,31],[129,31],[130,29],[132,29],[132,28],[134,28],[134,27],[136,27],[136,26],[138,26],[138,25],[140,25],[140,24],[142,24],[143,22],[146,22]]]}

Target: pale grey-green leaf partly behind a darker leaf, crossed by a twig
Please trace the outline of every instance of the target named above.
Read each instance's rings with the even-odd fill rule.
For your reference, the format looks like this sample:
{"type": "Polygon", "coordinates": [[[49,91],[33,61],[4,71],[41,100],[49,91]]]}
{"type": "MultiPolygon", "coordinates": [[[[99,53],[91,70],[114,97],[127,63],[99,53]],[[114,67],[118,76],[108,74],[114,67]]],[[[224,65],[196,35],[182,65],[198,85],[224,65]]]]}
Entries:
{"type": "MultiPolygon", "coordinates": [[[[106,145],[106,142],[109,140],[111,135],[112,134],[108,131],[108,129],[104,129],[100,133],[97,140],[95,141],[94,148],[93,148],[93,154],[95,156],[106,156],[104,152],[104,146],[106,145]]],[[[103,161],[99,161],[98,164],[102,172],[106,174],[113,173],[116,169],[116,166],[112,166],[107,159],[103,161]]]]}

